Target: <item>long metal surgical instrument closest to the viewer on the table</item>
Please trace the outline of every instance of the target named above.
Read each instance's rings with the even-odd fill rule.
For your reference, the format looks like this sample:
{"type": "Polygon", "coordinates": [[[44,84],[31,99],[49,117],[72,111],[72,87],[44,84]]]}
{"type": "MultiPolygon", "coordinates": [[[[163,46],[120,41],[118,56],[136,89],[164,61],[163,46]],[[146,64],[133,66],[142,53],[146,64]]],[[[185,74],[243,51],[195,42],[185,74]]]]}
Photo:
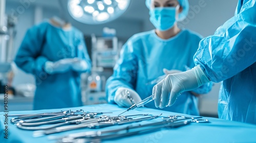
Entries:
{"type": "MultiPolygon", "coordinates": [[[[177,117],[177,116],[176,116],[177,117]]],[[[118,137],[130,136],[135,134],[142,134],[147,132],[154,132],[157,130],[161,130],[162,128],[178,128],[184,125],[189,125],[190,123],[199,123],[196,119],[192,120],[185,120],[181,122],[173,122],[172,120],[167,120],[168,117],[164,117],[166,120],[156,123],[144,124],[144,125],[134,125],[134,126],[127,126],[124,128],[114,129],[114,130],[103,130],[103,131],[87,131],[87,132],[80,132],[80,133],[73,133],[67,136],[62,137],[49,137],[49,139],[58,139],[59,142],[65,142],[69,140],[70,142],[75,142],[80,139],[113,139],[118,137]]],[[[171,117],[172,118],[172,117],[171,117]]],[[[188,117],[188,118],[195,118],[195,117],[188,117]]],[[[208,120],[203,119],[200,123],[209,123],[208,120]]],[[[90,141],[89,141],[90,142],[90,141]]]]}

